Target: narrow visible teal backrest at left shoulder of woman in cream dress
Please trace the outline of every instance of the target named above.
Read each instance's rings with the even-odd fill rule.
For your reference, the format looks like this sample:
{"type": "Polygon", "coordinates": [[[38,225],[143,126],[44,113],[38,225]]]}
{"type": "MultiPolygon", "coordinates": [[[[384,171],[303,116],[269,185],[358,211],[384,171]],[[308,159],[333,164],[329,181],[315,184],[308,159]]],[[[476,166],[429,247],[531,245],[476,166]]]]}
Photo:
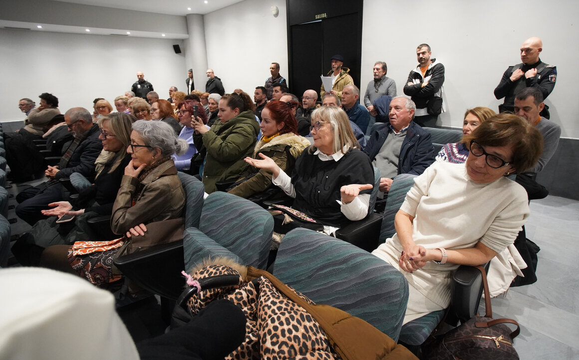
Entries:
{"type": "Polygon", "coordinates": [[[390,191],[388,192],[388,197],[386,199],[386,208],[384,208],[384,214],[382,215],[382,229],[380,230],[379,243],[382,244],[387,238],[394,236],[396,229],[394,228],[394,216],[404,199],[406,199],[406,193],[414,185],[414,178],[416,175],[412,174],[400,174],[397,175],[390,186],[390,191]]]}

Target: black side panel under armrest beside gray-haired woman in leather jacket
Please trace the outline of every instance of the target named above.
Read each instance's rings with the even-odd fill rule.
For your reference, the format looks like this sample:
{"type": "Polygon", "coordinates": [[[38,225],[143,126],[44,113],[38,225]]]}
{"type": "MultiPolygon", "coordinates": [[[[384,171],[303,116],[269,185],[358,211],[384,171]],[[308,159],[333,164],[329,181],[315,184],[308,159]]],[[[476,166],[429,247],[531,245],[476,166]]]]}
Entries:
{"type": "Polygon", "coordinates": [[[183,240],[159,244],[115,259],[115,266],[141,288],[177,300],[185,280],[181,275],[183,240]]]}

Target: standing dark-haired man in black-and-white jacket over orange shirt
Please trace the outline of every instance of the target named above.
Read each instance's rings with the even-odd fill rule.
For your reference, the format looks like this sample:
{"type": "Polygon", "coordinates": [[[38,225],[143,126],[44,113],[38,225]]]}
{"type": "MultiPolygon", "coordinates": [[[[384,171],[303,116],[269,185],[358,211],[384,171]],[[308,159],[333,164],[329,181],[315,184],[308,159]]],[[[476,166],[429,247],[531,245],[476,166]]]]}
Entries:
{"type": "Polygon", "coordinates": [[[428,44],[416,48],[418,66],[408,75],[404,94],[416,104],[414,121],[420,126],[434,127],[438,114],[444,111],[442,104],[442,84],[444,83],[444,65],[432,55],[428,44]]]}

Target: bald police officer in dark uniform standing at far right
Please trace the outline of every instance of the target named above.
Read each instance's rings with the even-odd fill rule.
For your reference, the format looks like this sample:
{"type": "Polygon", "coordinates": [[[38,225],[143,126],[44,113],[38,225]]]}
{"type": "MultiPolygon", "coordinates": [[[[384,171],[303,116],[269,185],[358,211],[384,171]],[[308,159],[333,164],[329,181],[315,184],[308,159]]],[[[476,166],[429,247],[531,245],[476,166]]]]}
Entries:
{"type": "MultiPolygon", "coordinates": [[[[521,64],[511,66],[504,72],[499,85],[494,89],[494,97],[505,98],[499,105],[499,112],[514,111],[515,94],[525,87],[536,87],[547,98],[555,88],[557,67],[543,63],[539,58],[543,50],[540,38],[529,38],[521,46],[521,64]]],[[[541,116],[549,119],[549,107],[545,105],[541,116]]]]}

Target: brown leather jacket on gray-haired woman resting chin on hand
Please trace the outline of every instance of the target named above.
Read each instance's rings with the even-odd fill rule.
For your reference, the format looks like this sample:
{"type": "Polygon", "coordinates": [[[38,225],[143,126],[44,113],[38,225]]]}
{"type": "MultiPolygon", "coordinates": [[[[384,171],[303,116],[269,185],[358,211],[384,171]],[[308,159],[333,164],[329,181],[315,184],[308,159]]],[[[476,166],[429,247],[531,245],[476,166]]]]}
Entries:
{"type": "Polygon", "coordinates": [[[141,182],[143,186],[134,205],[133,195],[137,191],[137,178],[123,175],[120,189],[113,204],[111,229],[124,234],[141,223],[177,219],[182,216],[185,191],[177,176],[173,160],[165,161],[151,171],[141,182]]]}

